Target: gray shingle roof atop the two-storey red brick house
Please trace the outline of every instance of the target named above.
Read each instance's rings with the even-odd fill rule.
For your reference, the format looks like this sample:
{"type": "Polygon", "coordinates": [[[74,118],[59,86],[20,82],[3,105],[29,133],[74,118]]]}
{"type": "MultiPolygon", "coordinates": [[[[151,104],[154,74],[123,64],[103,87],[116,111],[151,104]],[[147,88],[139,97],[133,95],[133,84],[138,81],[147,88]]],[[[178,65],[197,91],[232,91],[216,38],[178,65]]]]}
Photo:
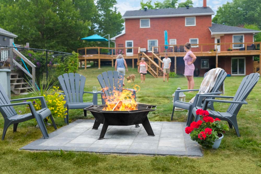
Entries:
{"type": "Polygon", "coordinates": [[[184,8],[165,8],[165,9],[147,9],[145,10],[132,10],[132,11],[126,11],[124,15],[122,16],[123,18],[135,18],[135,17],[140,17],[140,16],[164,16],[164,15],[169,15],[169,16],[182,16],[182,15],[193,15],[193,14],[198,14],[198,15],[204,15],[204,13],[211,13],[214,14],[214,11],[210,8],[203,8],[203,7],[189,7],[188,9],[186,7],[184,8]]]}

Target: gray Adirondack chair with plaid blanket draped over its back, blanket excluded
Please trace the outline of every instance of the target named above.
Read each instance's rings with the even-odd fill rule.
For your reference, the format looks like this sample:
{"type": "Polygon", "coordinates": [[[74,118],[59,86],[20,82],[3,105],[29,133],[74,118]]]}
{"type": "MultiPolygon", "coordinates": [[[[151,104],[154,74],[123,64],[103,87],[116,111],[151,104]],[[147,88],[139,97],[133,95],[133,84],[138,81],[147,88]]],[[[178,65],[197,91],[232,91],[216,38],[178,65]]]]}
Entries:
{"type": "MultiPolygon", "coordinates": [[[[206,76],[207,72],[204,74],[204,77],[206,76]]],[[[222,70],[217,77],[216,83],[214,87],[211,89],[209,93],[205,93],[205,95],[217,95],[221,94],[219,91],[220,87],[222,86],[224,80],[227,77],[227,73],[225,70],[222,70]]],[[[199,89],[185,89],[185,90],[176,90],[175,91],[175,97],[174,97],[174,103],[173,103],[173,110],[171,114],[171,120],[173,119],[174,109],[175,107],[179,107],[182,109],[188,110],[188,118],[187,118],[187,125],[189,125],[192,122],[192,109],[197,105],[198,97],[202,94],[196,94],[195,100],[193,103],[184,102],[179,100],[179,93],[180,92],[187,92],[187,91],[199,91],[199,89]]],[[[207,107],[211,110],[214,110],[213,103],[210,102],[207,107]]]]}

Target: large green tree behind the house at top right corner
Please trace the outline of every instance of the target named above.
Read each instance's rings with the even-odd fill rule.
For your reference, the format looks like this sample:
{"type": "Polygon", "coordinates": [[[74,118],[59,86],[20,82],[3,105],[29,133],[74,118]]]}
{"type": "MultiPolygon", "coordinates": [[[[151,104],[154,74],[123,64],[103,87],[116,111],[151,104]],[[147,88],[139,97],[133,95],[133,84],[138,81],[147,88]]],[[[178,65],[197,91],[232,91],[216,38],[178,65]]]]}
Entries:
{"type": "Polygon", "coordinates": [[[212,22],[230,26],[257,24],[260,28],[260,7],[260,0],[233,0],[233,2],[227,2],[218,8],[212,22]]]}

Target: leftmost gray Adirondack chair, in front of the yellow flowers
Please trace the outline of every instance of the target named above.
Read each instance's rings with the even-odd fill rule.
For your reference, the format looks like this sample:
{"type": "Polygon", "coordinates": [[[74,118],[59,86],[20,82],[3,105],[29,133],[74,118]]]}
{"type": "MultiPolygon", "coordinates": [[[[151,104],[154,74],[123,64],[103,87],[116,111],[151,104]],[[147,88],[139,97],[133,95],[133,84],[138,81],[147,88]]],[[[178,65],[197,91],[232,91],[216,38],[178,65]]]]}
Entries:
{"type": "Polygon", "coordinates": [[[0,112],[4,117],[4,130],[3,130],[2,140],[4,140],[5,133],[10,125],[14,124],[13,131],[16,132],[19,123],[25,122],[33,118],[36,119],[39,128],[45,139],[49,138],[49,135],[44,125],[43,119],[50,116],[54,128],[57,129],[54,119],[52,118],[51,111],[50,109],[47,108],[43,96],[9,100],[1,84],[0,84],[0,112]],[[26,101],[21,103],[11,103],[11,101],[25,101],[25,100],[32,100],[32,99],[40,99],[42,109],[35,111],[31,101],[26,101]],[[13,106],[18,106],[18,105],[29,105],[31,113],[26,113],[23,115],[17,114],[13,106]]]}

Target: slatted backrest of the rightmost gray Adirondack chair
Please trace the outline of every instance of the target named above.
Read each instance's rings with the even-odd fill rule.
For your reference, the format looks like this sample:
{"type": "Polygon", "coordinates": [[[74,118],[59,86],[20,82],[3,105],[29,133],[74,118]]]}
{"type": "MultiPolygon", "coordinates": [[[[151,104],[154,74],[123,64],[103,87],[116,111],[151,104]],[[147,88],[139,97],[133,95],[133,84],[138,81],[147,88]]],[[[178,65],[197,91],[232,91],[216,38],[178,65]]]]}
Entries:
{"type": "MultiPolygon", "coordinates": [[[[250,75],[245,76],[241,84],[239,85],[238,90],[236,91],[233,101],[246,100],[247,96],[250,94],[254,86],[257,84],[258,80],[258,73],[252,73],[250,75]]],[[[230,104],[227,112],[237,115],[241,106],[242,104],[230,104]]]]}

